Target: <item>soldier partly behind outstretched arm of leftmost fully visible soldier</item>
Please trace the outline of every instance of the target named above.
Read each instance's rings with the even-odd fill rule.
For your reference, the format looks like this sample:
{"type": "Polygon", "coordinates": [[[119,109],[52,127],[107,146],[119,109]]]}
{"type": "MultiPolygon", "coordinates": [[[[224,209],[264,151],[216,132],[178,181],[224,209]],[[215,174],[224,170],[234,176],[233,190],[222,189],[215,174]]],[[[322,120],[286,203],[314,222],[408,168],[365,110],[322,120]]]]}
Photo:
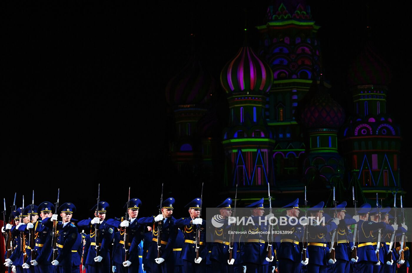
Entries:
{"type": "MultiPolygon", "coordinates": [[[[40,218],[42,220],[47,217],[52,217],[52,211],[54,205],[52,202],[43,202],[37,207],[37,211],[40,212],[40,218]]],[[[50,236],[50,229],[42,224],[42,221],[37,221],[35,226],[35,233],[37,237],[35,240],[35,252],[36,258],[30,260],[30,264],[34,267],[35,273],[48,273],[52,272],[53,267],[47,259],[52,251],[52,236],[50,236]]]]}

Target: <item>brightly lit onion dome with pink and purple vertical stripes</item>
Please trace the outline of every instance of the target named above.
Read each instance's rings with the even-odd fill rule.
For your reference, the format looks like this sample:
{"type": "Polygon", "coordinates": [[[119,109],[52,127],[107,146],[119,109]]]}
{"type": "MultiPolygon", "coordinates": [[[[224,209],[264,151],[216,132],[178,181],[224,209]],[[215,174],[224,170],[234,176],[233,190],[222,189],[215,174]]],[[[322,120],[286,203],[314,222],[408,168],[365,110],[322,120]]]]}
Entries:
{"type": "Polygon", "coordinates": [[[220,83],[226,93],[263,93],[272,86],[273,73],[267,63],[245,46],[222,69],[220,83]]]}

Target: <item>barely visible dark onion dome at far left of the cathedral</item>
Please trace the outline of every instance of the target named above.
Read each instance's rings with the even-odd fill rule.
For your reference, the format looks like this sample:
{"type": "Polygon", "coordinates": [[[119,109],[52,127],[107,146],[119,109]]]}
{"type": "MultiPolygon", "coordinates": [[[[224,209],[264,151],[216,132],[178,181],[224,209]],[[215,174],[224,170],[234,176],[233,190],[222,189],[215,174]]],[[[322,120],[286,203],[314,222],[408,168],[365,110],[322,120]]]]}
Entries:
{"type": "Polygon", "coordinates": [[[203,104],[211,98],[215,79],[191,56],[185,67],[166,86],[169,105],[203,104]]]}

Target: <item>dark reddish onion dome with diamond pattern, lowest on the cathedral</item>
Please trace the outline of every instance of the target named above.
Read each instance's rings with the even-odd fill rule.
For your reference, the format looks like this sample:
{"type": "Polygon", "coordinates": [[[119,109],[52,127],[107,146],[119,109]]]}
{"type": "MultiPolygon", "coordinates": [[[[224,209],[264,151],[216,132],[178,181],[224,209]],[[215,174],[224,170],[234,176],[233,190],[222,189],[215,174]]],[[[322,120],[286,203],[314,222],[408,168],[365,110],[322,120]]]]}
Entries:
{"type": "Polygon", "coordinates": [[[339,128],[345,121],[342,106],[324,90],[323,81],[315,96],[305,105],[302,121],[307,128],[339,128]]]}

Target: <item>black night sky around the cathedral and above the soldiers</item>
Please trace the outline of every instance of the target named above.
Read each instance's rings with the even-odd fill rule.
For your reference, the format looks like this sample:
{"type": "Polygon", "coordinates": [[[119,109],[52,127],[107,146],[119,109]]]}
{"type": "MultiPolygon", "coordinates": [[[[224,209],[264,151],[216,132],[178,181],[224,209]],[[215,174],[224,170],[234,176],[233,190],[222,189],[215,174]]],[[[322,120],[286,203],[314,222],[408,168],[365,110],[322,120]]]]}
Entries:
{"type": "MultiPolygon", "coordinates": [[[[245,9],[248,41],[257,49],[259,36],[253,27],[264,23],[267,2],[138,1],[120,6],[66,1],[6,6],[0,197],[9,206],[17,191],[18,205],[22,194],[27,205],[35,189],[35,203],[55,202],[59,187],[60,201],[77,206],[76,219],[85,217],[95,203],[98,183],[101,200],[108,201],[117,216],[123,213],[129,186],[131,197],[143,201],[141,215],[156,213],[162,182],[164,197],[175,197],[178,207],[197,197],[198,187],[173,180],[165,167],[165,86],[187,60],[192,32],[197,56],[218,79],[243,43],[245,9]]],[[[369,21],[372,40],[393,71],[387,110],[403,130],[400,164],[403,188],[408,190],[412,150],[407,137],[406,39],[411,4],[368,2],[309,4],[321,26],[326,80],[332,84],[332,97],[346,110],[352,106],[347,68],[361,49],[369,21]]],[[[220,85],[215,101],[221,118],[227,119],[220,85]]],[[[219,202],[207,199],[206,205],[219,202]]]]}

